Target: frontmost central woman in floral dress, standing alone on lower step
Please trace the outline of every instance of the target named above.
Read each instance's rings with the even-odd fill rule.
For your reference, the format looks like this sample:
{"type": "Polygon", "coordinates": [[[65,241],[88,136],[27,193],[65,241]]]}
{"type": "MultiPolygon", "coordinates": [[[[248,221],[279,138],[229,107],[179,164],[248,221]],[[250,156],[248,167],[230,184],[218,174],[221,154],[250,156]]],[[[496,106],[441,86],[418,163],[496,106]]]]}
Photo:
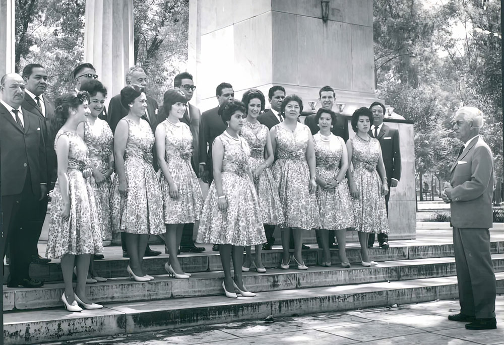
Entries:
{"type": "Polygon", "coordinates": [[[224,270],[222,287],[230,298],[237,297],[235,290],[245,297],[256,296],[243,286],[240,269],[243,246],[266,241],[254,178],[248,166],[250,148],[238,135],[244,113],[243,103],[237,101],[228,103],[222,111],[227,128],[212,145],[214,181],[203,205],[197,241],[219,244],[224,270]],[[234,279],[231,278],[231,252],[234,279]]]}

